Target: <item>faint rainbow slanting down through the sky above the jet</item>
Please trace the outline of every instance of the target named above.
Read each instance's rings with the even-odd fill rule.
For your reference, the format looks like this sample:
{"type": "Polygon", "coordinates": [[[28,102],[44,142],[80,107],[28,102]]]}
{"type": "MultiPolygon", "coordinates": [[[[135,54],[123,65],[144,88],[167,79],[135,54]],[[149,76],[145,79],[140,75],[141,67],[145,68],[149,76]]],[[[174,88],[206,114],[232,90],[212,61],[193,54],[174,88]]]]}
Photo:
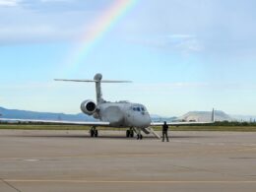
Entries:
{"type": "Polygon", "coordinates": [[[96,44],[103,38],[106,32],[109,32],[120,19],[137,3],[138,0],[114,0],[97,19],[90,30],[87,29],[81,37],[80,44],[71,56],[66,59],[65,71],[76,71],[96,44]]]}

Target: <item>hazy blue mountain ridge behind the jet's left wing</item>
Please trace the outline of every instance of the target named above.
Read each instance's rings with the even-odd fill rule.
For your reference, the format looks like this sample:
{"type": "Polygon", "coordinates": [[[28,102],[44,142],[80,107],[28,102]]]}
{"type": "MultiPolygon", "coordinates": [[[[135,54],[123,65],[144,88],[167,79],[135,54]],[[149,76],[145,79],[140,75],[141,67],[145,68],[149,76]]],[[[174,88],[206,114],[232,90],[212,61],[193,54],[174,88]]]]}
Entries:
{"type": "Polygon", "coordinates": [[[84,113],[65,114],[52,112],[35,112],[29,110],[7,109],[0,107],[2,118],[39,119],[39,120],[68,120],[68,121],[96,121],[92,116],[84,113]]]}

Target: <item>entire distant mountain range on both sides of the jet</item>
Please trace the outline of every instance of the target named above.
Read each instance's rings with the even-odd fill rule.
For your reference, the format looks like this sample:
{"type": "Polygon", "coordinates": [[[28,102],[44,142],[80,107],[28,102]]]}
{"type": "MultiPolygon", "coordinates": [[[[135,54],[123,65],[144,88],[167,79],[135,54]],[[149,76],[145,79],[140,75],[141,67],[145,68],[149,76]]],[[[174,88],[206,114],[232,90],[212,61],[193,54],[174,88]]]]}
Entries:
{"type": "MultiPolygon", "coordinates": [[[[84,113],[65,114],[52,112],[35,112],[29,110],[7,109],[0,107],[2,118],[39,119],[39,120],[67,120],[67,121],[96,121],[92,116],[84,113]]],[[[211,121],[211,111],[190,111],[180,117],[162,117],[157,114],[151,115],[153,121],[211,121]]],[[[228,115],[222,110],[215,111],[216,121],[255,121],[256,116],[228,115]]]]}

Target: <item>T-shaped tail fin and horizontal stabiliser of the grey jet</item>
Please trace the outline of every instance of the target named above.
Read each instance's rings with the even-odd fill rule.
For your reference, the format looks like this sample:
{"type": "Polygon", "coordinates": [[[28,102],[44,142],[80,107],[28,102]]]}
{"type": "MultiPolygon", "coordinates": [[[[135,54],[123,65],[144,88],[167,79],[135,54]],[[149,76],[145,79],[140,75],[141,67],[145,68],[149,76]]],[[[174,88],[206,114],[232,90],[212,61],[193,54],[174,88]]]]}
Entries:
{"type": "Polygon", "coordinates": [[[93,82],[96,83],[96,104],[100,104],[105,100],[102,97],[101,83],[132,83],[131,81],[112,81],[112,80],[102,80],[102,75],[97,73],[94,80],[66,80],[66,79],[54,79],[55,81],[65,81],[65,82],[93,82]]]}

